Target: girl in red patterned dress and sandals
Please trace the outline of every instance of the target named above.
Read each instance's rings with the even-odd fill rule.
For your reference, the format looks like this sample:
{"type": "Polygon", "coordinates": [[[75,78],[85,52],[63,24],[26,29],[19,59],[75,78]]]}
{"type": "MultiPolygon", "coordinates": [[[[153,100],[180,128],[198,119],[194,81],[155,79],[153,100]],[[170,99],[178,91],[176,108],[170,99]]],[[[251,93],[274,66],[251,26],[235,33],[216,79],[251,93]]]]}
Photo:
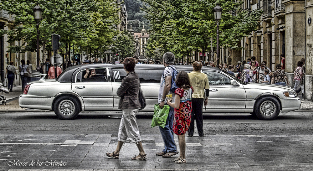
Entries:
{"type": "Polygon", "coordinates": [[[191,119],[191,95],[192,86],[187,72],[181,71],[176,77],[175,103],[168,100],[167,104],[175,108],[173,131],[178,136],[180,155],[174,161],[178,164],[186,164],[185,133],[188,131],[191,119]]]}

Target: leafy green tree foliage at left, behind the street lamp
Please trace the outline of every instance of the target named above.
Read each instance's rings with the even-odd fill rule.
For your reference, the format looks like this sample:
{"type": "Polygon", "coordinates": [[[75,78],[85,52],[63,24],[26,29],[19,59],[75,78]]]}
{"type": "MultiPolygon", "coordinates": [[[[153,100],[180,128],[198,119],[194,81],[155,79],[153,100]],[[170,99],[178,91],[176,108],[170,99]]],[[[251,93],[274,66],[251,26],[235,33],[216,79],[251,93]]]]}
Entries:
{"type": "Polygon", "coordinates": [[[13,30],[2,31],[9,41],[23,40],[19,47],[9,47],[12,52],[36,49],[36,21],[33,7],[40,4],[43,18],[39,24],[40,44],[51,49],[51,34],[61,35],[60,51],[68,51],[70,44],[105,51],[117,32],[114,25],[119,21],[115,0],[9,0],[1,1],[0,8],[15,15],[13,30]]]}

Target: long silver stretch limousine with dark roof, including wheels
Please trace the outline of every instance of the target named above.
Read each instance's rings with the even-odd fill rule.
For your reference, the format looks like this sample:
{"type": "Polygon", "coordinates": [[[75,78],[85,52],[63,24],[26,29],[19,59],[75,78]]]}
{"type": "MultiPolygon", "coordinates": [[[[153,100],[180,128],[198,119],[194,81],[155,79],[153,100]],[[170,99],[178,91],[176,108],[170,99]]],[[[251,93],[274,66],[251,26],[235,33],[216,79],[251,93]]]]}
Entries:
{"type": "MultiPolygon", "coordinates": [[[[191,72],[192,66],[177,65],[178,71],[191,72]]],[[[163,65],[136,65],[147,106],[157,103],[163,65]]],[[[203,112],[250,113],[262,120],[275,119],[280,111],[300,108],[301,101],[287,86],[243,82],[215,67],[203,66],[208,75],[210,95],[203,112]]],[[[126,71],[122,64],[88,64],[67,68],[57,79],[28,83],[19,96],[19,106],[52,110],[60,119],[74,119],[80,111],[116,111],[120,97],[116,91],[126,71]],[[86,69],[96,75],[86,75],[86,69]]]]}

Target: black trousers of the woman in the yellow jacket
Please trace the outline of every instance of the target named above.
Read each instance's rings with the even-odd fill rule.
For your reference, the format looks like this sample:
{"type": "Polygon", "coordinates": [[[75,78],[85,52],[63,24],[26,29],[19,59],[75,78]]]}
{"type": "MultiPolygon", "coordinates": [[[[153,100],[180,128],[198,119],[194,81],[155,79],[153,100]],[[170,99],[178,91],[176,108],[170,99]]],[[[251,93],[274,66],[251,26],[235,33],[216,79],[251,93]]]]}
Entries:
{"type": "Polygon", "coordinates": [[[197,123],[197,129],[199,136],[203,136],[203,114],[202,114],[202,108],[203,108],[203,100],[204,99],[198,99],[198,98],[192,98],[191,104],[192,104],[192,113],[191,113],[191,121],[190,121],[190,127],[188,129],[188,135],[193,135],[194,132],[194,121],[196,120],[197,123]]]}

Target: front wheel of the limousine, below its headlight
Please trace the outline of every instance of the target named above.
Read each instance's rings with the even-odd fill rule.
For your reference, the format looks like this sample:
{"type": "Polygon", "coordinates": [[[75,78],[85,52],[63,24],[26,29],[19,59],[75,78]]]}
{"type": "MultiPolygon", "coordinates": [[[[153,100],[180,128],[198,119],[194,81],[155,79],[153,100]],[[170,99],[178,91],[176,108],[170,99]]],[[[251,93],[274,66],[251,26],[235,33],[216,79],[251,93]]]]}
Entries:
{"type": "Polygon", "coordinates": [[[264,97],[257,101],[254,111],[261,120],[274,120],[280,113],[280,103],[274,97],[264,97]]]}

